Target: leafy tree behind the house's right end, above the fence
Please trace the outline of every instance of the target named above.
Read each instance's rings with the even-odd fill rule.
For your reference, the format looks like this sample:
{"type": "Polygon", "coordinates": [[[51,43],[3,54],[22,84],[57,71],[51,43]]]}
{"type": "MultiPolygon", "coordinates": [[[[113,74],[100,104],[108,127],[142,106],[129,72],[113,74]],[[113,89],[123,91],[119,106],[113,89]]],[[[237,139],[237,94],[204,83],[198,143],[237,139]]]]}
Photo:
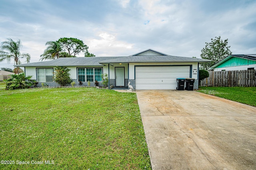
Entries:
{"type": "Polygon", "coordinates": [[[228,46],[228,39],[222,41],[220,36],[211,39],[210,43],[206,43],[205,48],[203,48],[201,52],[202,54],[200,56],[202,59],[212,60],[209,63],[201,64],[202,68],[205,70],[232,54],[230,46],[228,46]]]}

